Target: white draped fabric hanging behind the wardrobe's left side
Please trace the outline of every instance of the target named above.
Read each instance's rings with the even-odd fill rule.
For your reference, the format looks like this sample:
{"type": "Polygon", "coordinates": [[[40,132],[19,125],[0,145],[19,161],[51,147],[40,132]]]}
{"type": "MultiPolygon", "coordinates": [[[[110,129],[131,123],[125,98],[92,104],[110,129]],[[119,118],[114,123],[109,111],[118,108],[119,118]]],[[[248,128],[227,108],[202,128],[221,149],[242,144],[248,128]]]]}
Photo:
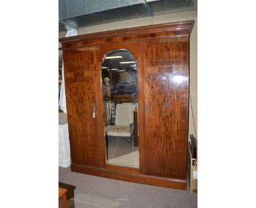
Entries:
{"type": "MultiPolygon", "coordinates": [[[[66,34],[66,37],[75,36],[75,35],[78,35],[77,29],[69,29],[66,34]]],[[[64,113],[67,113],[63,62],[62,62],[62,82],[61,82],[59,106],[64,113]]]]}

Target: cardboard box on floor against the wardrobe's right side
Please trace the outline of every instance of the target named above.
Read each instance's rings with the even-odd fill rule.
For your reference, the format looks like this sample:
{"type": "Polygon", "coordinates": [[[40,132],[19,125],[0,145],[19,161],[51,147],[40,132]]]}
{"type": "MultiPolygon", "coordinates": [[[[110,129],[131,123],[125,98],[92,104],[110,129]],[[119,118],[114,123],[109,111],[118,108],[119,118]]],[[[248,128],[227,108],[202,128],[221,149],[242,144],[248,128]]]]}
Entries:
{"type": "Polygon", "coordinates": [[[188,182],[191,193],[197,193],[197,159],[192,157],[188,145],[188,182]]]}

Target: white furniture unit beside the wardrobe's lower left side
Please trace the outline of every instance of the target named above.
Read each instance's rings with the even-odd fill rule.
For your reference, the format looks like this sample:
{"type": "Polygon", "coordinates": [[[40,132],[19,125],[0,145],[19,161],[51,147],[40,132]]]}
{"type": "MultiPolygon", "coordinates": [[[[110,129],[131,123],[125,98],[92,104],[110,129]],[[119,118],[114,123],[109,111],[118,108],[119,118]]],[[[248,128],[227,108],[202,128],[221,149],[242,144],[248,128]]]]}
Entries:
{"type": "Polygon", "coordinates": [[[59,118],[59,166],[64,168],[70,166],[70,147],[66,118],[59,118]]]}

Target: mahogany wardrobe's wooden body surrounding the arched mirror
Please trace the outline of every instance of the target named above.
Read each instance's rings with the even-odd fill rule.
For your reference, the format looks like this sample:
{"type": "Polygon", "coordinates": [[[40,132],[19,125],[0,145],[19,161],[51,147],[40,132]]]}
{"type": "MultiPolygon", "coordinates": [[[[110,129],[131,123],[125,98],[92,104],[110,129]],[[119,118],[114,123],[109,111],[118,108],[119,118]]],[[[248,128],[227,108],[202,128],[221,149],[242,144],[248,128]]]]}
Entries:
{"type": "Polygon", "coordinates": [[[194,21],[162,23],[59,39],[72,172],[187,188],[189,36],[193,25],[194,21]],[[132,148],[138,149],[138,167],[108,163],[106,158],[102,64],[115,50],[128,52],[136,60],[120,59],[119,63],[136,63],[130,66],[136,66],[139,142],[136,147],[132,138],[132,148]]]}

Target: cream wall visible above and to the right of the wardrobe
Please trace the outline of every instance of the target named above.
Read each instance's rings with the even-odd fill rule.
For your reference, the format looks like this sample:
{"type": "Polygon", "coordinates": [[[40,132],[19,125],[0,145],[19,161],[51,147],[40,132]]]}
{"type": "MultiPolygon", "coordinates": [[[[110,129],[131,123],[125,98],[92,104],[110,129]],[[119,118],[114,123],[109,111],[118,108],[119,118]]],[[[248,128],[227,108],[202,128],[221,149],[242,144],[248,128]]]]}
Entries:
{"type": "MultiPolygon", "coordinates": [[[[190,35],[190,93],[192,100],[192,107],[195,120],[195,130],[197,133],[197,10],[183,11],[181,13],[172,13],[165,15],[157,15],[152,17],[143,17],[133,20],[125,20],[120,22],[112,22],[104,25],[96,25],[91,27],[79,28],[78,35],[101,32],[106,30],[138,27],[144,25],[154,25],[166,22],[177,22],[185,20],[194,20],[195,25],[190,35]]],[[[66,32],[59,33],[59,38],[66,36],[66,32]]],[[[59,47],[61,44],[59,43],[59,47]]],[[[191,112],[191,103],[189,106],[189,134],[194,134],[194,123],[191,112]]]]}

